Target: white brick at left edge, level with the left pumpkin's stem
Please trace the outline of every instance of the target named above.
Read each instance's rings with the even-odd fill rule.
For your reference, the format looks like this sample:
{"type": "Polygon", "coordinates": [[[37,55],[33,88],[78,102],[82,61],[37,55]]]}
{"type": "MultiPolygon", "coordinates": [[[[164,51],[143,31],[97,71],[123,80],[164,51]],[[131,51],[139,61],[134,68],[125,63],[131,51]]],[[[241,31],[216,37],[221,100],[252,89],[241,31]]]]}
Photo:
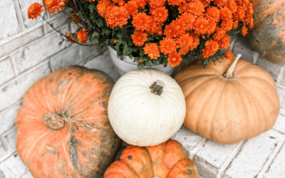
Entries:
{"type": "Polygon", "coordinates": [[[11,107],[0,112],[0,135],[14,127],[16,115],[21,106],[21,102],[17,102],[11,107]]]}

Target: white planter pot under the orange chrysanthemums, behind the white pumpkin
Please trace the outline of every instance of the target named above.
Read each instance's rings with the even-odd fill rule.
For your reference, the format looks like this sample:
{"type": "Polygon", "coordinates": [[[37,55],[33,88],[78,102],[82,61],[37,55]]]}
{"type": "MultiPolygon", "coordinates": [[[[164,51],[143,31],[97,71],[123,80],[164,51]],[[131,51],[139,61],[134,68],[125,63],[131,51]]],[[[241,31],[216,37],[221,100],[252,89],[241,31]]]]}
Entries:
{"type": "MultiPolygon", "coordinates": [[[[124,59],[123,61],[121,61],[120,58],[118,58],[117,56],[117,51],[115,51],[110,46],[108,46],[108,50],[110,52],[110,58],[115,66],[115,70],[118,72],[118,75],[122,76],[122,75],[125,75],[125,73],[130,72],[131,70],[138,69],[138,63],[133,62],[133,59],[129,58],[128,56],[123,56],[124,59]]],[[[164,67],[162,64],[158,64],[158,65],[153,65],[152,68],[156,68],[170,76],[175,71],[175,68],[173,68],[170,65],[167,65],[166,67],[164,67]]]]}

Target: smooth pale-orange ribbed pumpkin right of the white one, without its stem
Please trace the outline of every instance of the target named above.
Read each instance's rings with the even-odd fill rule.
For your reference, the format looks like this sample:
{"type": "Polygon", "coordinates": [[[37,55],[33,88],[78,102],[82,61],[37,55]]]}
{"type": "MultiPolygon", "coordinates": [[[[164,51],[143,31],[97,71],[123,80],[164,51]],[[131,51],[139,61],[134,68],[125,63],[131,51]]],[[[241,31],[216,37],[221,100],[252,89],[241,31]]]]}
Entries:
{"type": "Polygon", "coordinates": [[[264,68],[239,59],[232,77],[224,77],[234,59],[210,60],[202,68],[199,58],[175,76],[186,100],[185,127],[222,144],[270,130],[280,110],[276,84],[264,68]]]}

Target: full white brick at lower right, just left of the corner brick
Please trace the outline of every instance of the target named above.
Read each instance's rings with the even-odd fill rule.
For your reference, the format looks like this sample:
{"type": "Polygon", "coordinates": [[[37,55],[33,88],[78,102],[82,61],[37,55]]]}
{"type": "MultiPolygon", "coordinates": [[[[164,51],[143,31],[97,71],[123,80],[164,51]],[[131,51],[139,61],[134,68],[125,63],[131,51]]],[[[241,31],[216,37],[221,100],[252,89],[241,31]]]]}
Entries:
{"type": "Polygon", "coordinates": [[[223,178],[257,177],[279,141],[279,138],[271,137],[266,132],[247,140],[223,178]]]}

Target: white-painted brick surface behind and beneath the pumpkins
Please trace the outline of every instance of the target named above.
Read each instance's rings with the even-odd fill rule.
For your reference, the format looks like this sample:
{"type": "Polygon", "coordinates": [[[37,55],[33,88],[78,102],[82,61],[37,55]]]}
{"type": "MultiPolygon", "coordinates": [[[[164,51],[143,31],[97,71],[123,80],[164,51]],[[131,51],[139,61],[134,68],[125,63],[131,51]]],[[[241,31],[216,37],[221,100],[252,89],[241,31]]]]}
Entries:
{"type": "MultiPolygon", "coordinates": [[[[15,150],[14,122],[26,90],[39,78],[53,70],[71,65],[114,72],[108,52],[99,56],[96,48],[63,43],[61,36],[41,18],[27,18],[28,6],[41,0],[5,0],[0,2],[0,178],[31,178],[15,150]],[[92,60],[95,58],[95,60],[92,60]],[[14,169],[17,167],[16,169],[14,169]]],[[[63,13],[45,14],[46,19],[61,31],[77,28],[63,13]]],[[[203,178],[257,177],[284,178],[285,159],[285,69],[266,61],[250,49],[246,38],[232,37],[234,55],[265,68],[276,81],[281,113],[276,125],[258,137],[234,145],[221,145],[182,127],[172,139],[182,142],[188,155],[197,164],[203,178]]]]}

